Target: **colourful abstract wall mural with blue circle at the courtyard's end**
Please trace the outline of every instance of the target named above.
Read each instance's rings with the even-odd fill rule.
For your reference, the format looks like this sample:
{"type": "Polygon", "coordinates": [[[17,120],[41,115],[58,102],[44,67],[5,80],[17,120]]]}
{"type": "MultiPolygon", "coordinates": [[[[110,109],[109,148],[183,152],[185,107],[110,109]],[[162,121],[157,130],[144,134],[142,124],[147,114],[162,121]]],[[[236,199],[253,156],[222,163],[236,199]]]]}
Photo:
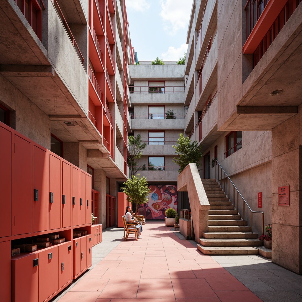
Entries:
{"type": "Polygon", "coordinates": [[[149,201],[138,209],[138,215],[146,220],[164,220],[165,210],[173,208],[177,211],[177,185],[150,185],[149,201]]]}

